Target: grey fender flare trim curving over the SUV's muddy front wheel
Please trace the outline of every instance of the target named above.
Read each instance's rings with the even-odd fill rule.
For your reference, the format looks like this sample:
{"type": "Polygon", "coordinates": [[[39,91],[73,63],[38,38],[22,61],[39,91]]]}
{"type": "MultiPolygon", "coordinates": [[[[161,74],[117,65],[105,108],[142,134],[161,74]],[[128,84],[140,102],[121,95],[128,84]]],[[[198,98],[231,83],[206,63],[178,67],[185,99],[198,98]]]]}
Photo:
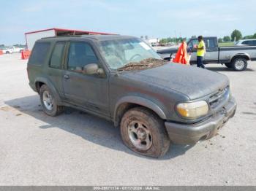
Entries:
{"type": "Polygon", "coordinates": [[[140,106],[145,106],[146,108],[151,109],[153,112],[158,114],[162,120],[166,120],[167,118],[163,109],[161,109],[161,107],[159,107],[153,101],[135,95],[127,95],[118,100],[116,103],[113,115],[113,120],[115,123],[118,122],[118,108],[122,104],[138,104],[140,106]]]}

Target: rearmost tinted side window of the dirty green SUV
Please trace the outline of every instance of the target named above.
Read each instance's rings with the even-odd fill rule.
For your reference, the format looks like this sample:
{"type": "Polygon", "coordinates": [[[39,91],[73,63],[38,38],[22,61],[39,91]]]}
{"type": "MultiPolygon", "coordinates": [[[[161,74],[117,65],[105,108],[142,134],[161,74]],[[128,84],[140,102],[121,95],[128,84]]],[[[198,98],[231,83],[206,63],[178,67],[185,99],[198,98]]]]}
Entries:
{"type": "Polygon", "coordinates": [[[30,64],[42,65],[45,62],[45,58],[48,54],[50,42],[36,42],[34,44],[33,51],[29,58],[30,64]]]}

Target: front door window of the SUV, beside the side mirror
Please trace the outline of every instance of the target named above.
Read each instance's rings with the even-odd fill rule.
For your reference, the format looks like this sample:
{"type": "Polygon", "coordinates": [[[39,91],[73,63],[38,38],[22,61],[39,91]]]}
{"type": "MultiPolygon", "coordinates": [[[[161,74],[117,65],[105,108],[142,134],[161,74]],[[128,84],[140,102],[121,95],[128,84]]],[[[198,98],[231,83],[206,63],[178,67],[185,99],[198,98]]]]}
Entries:
{"type": "Polygon", "coordinates": [[[89,63],[98,63],[97,56],[90,44],[86,42],[71,42],[69,45],[67,69],[82,72],[84,66],[89,63]]]}

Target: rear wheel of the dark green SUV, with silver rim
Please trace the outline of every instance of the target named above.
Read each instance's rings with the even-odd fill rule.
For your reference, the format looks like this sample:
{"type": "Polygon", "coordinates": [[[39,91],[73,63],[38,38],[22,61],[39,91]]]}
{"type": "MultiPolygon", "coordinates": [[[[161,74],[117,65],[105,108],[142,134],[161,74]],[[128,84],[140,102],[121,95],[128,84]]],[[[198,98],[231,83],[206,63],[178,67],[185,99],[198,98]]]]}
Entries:
{"type": "Polygon", "coordinates": [[[40,101],[43,111],[50,115],[56,116],[64,111],[64,106],[58,106],[56,100],[47,85],[42,85],[39,91],[40,101]]]}

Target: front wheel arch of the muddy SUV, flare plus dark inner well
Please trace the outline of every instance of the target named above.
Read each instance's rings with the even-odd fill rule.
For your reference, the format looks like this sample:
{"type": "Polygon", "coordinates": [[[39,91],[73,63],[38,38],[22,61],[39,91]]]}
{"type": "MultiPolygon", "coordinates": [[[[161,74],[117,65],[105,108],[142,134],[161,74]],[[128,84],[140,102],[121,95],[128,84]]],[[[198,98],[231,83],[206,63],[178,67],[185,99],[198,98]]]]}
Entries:
{"type": "Polygon", "coordinates": [[[120,124],[121,117],[123,117],[124,113],[127,112],[129,109],[137,106],[143,106],[146,109],[151,110],[151,112],[157,114],[157,116],[162,120],[166,120],[165,112],[163,112],[163,110],[153,101],[136,96],[126,96],[124,98],[121,98],[121,100],[119,100],[116,104],[113,114],[114,125],[117,127],[120,124]]]}

